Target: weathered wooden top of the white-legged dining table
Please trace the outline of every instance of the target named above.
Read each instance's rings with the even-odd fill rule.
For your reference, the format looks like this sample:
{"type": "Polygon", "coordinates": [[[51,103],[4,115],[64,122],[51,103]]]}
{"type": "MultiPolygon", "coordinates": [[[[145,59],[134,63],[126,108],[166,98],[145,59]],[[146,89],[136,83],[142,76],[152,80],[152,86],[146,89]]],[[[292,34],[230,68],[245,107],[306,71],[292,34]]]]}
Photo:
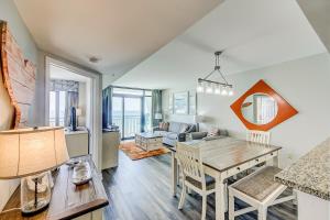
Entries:
{"type": "MultiPolygon", "coordinates": [[[[282,148],[279,146],[251,143],[233,138],[223,138],[213,141],[179,142],[179,144],[199,147],[202,164],[219,172],[230,169],[282,148]]],[[[174,147],[170,150],[176,151],[174,147]]]]}

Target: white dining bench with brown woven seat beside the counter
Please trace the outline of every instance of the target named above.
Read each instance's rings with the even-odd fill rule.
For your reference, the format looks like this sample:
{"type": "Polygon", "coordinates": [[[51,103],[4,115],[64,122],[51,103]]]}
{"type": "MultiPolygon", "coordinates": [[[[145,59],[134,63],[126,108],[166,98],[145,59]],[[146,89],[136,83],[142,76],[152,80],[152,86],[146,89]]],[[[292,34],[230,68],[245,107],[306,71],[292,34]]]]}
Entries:
{"type": "Polygon", "coordinates": [[[257,220],[266,220],[270,206],[296,199],[295,195],[278,198],[287,188],[274,180],[274,176],[280,170],[274,166],[266,166],[229,186],[229,220],[255,210],[257,220]],[[251,207],[235,211],[234,198],[251,207]]]}

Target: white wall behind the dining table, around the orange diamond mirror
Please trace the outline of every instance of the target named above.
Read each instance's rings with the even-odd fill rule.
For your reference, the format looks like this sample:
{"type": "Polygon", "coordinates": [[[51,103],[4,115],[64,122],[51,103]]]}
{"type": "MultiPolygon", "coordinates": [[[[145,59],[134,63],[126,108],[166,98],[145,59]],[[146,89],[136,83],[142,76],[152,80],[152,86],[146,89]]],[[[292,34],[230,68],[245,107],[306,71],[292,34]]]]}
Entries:
{"type": "MultiPolygon", "coordinates": [[[[272,144],[283,146],[283,166],[290,164],[330,135],[330,55],[320,54],[266,68],[249,70],[228,77],[234,85],[233,97],[198,95],[198,113],[206,116],[209,124],[228,129],[230,135],[244,139],[245,127],[230,109],[242,94],[257,80],[264,79],[299,113],[273,128],[272,144]]],[[[195,89],[185,85],[164,92],[164,112],[168,107],[168,94],[175,90],[195,89]]],[[[193,117],[170,116],[169,120],[193,121],[193,117]]]]}

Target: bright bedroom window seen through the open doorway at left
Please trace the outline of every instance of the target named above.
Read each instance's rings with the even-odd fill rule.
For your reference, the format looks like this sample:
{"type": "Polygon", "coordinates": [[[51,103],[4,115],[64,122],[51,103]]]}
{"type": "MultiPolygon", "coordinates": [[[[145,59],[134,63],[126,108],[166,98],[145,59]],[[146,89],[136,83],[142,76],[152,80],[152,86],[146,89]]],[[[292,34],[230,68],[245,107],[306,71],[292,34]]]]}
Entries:
{"type": "Polygon", "coordinates": [[[50,125],[64,127],[65,125],[65,91],[50,91],[50,125]]]}

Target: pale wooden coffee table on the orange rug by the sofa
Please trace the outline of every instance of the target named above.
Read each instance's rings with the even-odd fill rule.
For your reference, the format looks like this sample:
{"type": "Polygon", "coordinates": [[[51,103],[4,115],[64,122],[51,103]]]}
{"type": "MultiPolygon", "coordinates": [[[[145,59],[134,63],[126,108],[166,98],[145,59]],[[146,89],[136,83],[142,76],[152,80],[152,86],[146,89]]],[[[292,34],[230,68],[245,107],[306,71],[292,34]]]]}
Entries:
{"type": "Polygon", "coordinates": [[[163,135],[157,132],[135,134],[135,144],[144,151],[154,151],[163,147],[163,135]]]}

